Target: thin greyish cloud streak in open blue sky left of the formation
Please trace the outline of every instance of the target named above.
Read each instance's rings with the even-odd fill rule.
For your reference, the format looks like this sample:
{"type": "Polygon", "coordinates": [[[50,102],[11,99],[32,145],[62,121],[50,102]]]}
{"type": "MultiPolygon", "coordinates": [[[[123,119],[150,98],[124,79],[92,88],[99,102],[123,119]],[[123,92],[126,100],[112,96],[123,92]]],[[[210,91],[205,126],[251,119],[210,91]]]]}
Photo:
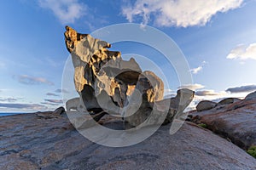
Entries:
{"type": "Polygon", "coordinates": [[[50,86],[54,85],[54,82],[50,82],[45,78],[42,77],[30,77],[28,75],[20,75],[17,77],[14,77],[18,82],[21,84],[26,84],[26,85],[38,85],[38,84],[47,84],[50,86]]]}

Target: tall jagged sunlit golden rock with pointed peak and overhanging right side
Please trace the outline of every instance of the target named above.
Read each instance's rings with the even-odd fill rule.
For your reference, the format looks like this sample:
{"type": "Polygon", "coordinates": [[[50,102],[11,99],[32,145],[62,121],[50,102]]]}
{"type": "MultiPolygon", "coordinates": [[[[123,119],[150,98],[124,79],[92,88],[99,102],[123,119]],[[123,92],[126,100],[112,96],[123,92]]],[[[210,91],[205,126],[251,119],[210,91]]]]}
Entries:
{"type": "Polygon", "coordinates": [[[128,105],[127,96],[132,95],[135,88],[143,95],[144,103],[163,99],[163,82],[153,72],[143,72],[135,59],[125,61],[120,52],[107,49],[111,47],[108,42],[79,34],[69,26],[66,29],[75,88],[86,110],[119,114],[128,105]]]}

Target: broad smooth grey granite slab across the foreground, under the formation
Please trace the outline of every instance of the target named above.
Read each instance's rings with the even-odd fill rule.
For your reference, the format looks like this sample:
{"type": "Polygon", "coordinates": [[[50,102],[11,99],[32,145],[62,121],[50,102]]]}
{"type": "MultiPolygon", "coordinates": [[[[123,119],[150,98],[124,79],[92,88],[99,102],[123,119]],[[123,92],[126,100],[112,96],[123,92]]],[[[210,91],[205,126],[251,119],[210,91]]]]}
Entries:
{"type": "Polygon", "coordinates": [[[66,116],[3,116],[0,169],[256,168],[256,159],[207,129],[186,122],[170,135],[169,128],[160,127],[140,144],[110,148],[85,139],[66,116]]]}

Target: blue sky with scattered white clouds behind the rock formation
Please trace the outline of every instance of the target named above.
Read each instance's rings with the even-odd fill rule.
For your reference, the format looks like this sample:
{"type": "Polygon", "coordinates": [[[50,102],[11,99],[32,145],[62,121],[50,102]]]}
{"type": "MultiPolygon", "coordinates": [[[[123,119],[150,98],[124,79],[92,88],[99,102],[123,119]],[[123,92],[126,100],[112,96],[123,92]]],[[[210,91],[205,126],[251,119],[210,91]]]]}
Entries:
{"type": "MultiPolygon", "coordinates": [[[[153,26],[176,42],[193,83],[180,84],[172,66],[146,45],[119,42],[111,50],[155,59],[178,88],[201,99],[243,98],[256,90],[255,0],[9,0],[0,3],[0,112],[48,111],[63,105],[62,74],[69,53],[65,26],[91,33],[105,26],[153,26]]],[[[139,57],[137,60],[140,60],[139,57]]],[[[138,61],[139,62],[139,61],[138,61]]],[[[152,70],[139,62],[143,70],[152,70]]],[[[154,70],[154,69],[153,69],[154,70]]]]}

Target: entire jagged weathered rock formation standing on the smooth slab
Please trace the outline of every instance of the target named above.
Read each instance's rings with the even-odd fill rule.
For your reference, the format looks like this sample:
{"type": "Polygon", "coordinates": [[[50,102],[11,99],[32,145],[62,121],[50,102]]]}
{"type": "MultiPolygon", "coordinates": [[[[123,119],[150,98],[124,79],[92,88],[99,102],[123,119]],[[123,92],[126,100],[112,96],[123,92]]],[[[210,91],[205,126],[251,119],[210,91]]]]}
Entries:
{"type": "MultiPolygon", "coordinates": [[[[109,51],[111,44],[108,42],[89,34],[80,34],[69,26],[66,30],[65,41],[72,55],[75,88],[90,113],[104,111],[111,115],[121,115],[131,126],[146,120],[147,125],[164,122],[166,116],[169,117],[166,122],[171,122],[172,117],[182,112],[193,99],[194,92],[187,89],[178,91],[175,102],[172,99],[161,101],[164,84],[154,72],[142,71],[135,59],[125,61],[120,52],[109,51]],[[159,102],[158,105],[156,102],[159,102]],[[172,111],[168,102],[176,103],[172,105],[172,111]],[[148,119],[151,113],[154,118],[148,119]],[[163,115],[164,120],[160,120],[163,115]]],[[[67,110],[71,104],[80,105],[77,100],[67,101],[67,110]]],[[[81,106],[72,107],[83,109],[81,106]]]]}

